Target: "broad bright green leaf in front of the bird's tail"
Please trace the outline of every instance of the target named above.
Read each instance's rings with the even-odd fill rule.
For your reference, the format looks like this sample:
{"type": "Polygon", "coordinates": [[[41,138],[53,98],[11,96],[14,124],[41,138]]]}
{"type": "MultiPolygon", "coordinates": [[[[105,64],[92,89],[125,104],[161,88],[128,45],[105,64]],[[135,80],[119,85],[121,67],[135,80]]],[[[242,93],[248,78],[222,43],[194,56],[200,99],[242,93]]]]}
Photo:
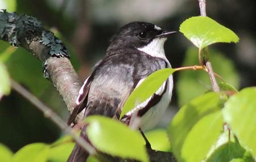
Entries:
{"type": "Polygon", "coordinates": [[[103,116],[89,116],[86,133],[97,150],[113,156],[148,161],[141,134],[125,124],[103,116]]]}

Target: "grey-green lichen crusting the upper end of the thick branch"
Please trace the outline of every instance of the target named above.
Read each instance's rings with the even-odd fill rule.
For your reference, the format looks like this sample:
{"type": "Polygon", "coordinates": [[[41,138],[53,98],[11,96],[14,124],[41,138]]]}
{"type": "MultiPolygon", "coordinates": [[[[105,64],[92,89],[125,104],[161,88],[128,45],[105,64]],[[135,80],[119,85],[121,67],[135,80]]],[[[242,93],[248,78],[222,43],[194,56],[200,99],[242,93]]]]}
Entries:
{"type": "Polygon", "coordinates": [[[43,45],[49,47],[51,56],[69,58],[68,50],[63,42],[57,39],[51,31],[44,30],[42,24],[31,16],[2,10],[0,14],[0,38],[8,40],[15,47],[18,47],[23,39],[27,44],[39,40],[43,45]]]}

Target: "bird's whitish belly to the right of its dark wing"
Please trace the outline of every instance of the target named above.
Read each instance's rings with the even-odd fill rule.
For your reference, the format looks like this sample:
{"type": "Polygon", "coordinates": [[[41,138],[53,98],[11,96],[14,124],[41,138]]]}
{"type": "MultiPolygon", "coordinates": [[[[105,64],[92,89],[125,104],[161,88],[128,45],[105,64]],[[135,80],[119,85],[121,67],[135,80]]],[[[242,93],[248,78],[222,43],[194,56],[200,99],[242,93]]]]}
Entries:
{"type": "Polygon", "coordinates": [[[150,108],[142,117],[141,117],[141,129],[143,131],[150,130],[156,126],[159,120],[163,117],[168,105],[170,104],[172,97],[172,76],[169,78],[169,84],[167,87],[167,92],[164,93],[162,99],[158,104],[150,108]]]}

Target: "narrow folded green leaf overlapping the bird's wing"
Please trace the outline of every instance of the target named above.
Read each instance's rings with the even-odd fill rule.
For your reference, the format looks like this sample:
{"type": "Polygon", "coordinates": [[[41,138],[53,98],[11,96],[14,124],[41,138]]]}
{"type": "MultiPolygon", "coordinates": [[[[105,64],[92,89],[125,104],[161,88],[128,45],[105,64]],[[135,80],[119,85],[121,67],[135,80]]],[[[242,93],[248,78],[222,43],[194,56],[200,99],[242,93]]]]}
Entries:
{"type": "Polygon", "coordinates": [[[162,86],[164,81],[166,81],[168,77],[174,73],[174,71],[175,69],[171,68],[161,69],[147,76],[147,78],[134,89],[126,100],[119,119],[121,120],[121,118],[127,112],[135,108],[137,105],[143,103],[143,101],[147,100],[148,97],[153,95],[159,89],[159,87],[162,86]]]}

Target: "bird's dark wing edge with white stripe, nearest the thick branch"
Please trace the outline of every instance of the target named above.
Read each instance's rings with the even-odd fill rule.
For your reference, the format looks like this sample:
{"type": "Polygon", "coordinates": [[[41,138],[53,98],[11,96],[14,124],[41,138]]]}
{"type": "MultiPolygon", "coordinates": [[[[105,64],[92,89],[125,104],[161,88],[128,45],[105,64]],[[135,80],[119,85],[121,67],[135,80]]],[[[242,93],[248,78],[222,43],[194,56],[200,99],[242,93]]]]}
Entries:
{"type": "Polygon", "coordinates": [[[79,91],[79,95],[77,96],[76,99],[76,105],[75,108],[73,109],[73,112],[68,118],[68,125],[70,125],[72,122],[75,121],[75,118],[77,114],[79,114],[86,106],[87,100],[88,100],[88,92],[90,89],[90,83],[92,83],[92,75],[90,75],[82,85],[79,91]]]}

